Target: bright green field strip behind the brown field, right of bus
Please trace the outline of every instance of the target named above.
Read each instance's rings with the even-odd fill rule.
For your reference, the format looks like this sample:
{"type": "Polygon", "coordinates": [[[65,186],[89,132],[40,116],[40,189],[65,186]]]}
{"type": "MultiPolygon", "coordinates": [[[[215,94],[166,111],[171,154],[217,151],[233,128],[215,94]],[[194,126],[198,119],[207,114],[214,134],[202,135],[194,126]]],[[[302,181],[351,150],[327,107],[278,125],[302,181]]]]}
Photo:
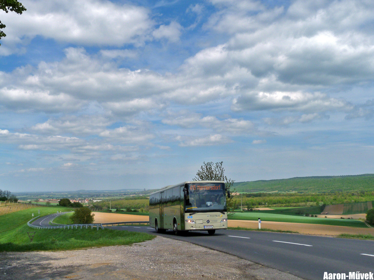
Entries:
{"type": "Polygon", "coordinates": [[[260,218],[262,221],[283,222],[283,223],[304,223],[321,225],[342,225],[346,227],[368,227],[365,223],[358,220],[312,218],[300,215],[273,214],[270,211],[253,211],[234,213],[229,216],[229,220],[249,220],[256,221],[260,218]]]}

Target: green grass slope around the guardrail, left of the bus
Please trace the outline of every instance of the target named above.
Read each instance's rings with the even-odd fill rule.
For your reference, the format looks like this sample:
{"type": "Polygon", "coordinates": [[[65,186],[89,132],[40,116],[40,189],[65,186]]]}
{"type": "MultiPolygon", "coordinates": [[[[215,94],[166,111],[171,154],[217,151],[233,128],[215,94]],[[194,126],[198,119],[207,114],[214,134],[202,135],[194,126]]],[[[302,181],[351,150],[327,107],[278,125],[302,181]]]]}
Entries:
{"type": "MultiPolygon", "coordinates": [[[[129,245],[151,240],[154,236],[146,233],[96,229],[34,229],[28,227],[27,221],[34,217],[66,211],[65,207],[40,207],[26,209],[0,216],[0,252],[1,251],[48,251],[72,250],[80,248],[129,245]],[[30,242],[27,232],[35,232],[30,242]]],[[[64,216],[64,215],[63,215],[64,216]]]]}

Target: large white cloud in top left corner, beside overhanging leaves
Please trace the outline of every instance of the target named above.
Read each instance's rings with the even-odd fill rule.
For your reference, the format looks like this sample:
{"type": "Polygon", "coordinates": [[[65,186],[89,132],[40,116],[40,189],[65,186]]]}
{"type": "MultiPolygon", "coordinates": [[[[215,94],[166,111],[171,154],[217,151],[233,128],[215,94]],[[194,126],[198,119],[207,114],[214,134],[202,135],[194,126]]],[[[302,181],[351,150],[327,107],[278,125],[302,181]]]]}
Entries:
{"type": "Polygon", "coordinates": [[[14,46],[37,35],[82,46],[141,45],[150,39],[154,26],[150,11],[132,4],[106,0],[36,0],[23,4],[27,12],[22,16],[3,15],[7,37],[1,40],[1,46],[14,46]]]}

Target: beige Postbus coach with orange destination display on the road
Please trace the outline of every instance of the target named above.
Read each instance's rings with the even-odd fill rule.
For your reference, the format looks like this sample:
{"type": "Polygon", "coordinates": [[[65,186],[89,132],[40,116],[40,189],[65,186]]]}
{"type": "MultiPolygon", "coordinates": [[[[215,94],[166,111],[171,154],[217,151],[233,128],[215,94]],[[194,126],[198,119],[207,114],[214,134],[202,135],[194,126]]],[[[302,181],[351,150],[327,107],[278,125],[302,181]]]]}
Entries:
{"type": "MultiPolygon", "coordinates": [[[[227,191],[230,197],[230,192],[227,191]]],[[[224,181],[188,181],[163,187],[149,197],[149,225],[158,233],[227,229],[224,181]]]]}

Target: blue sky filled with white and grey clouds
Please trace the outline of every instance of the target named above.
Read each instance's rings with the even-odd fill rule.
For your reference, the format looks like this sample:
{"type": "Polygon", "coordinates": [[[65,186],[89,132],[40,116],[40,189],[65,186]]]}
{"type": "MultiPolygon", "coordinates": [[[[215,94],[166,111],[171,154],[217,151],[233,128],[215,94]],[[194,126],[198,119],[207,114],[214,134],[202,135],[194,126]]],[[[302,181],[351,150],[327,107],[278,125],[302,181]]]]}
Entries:
{"type": "Polygon", "coordinates": [[[0,188],[373,173],[372,1],[28,0],[0,12],[0,188]]]}

